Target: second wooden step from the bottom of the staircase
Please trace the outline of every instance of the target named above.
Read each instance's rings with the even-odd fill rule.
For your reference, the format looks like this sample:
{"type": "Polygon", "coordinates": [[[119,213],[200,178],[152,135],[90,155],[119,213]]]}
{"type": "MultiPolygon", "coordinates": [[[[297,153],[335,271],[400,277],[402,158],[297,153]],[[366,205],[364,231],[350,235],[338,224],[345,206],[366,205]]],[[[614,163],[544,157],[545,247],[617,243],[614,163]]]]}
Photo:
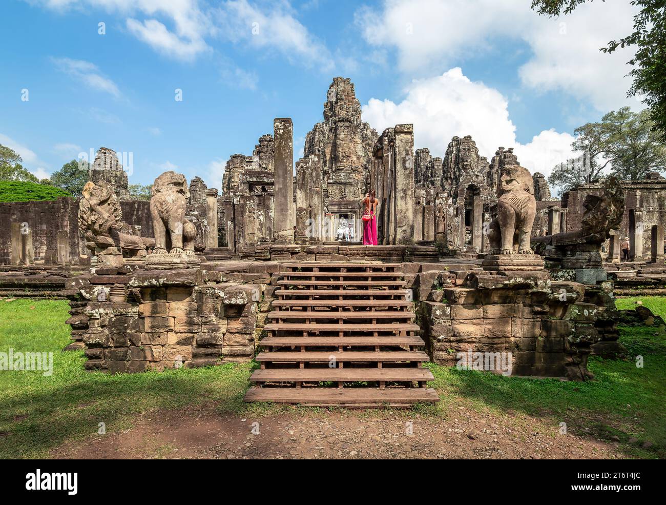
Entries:
{"type": "Polygon", "coordinates": [[[252,382],[401,382],[434,380],[428,368],[265,368],[254,370],[252,382]]]}

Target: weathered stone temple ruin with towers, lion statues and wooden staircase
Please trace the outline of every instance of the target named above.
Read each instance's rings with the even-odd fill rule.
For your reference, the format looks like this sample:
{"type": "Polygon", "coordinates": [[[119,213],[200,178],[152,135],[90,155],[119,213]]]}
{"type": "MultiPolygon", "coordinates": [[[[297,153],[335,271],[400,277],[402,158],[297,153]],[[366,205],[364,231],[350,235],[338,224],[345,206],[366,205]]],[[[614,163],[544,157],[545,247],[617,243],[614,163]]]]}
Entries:
{"type": "Polygon", "coordinates": [[[293,128],[232,155],[219,193],[166,172],[131,201],[102,148],[80,199],[0,204],[0,292],[67,297],[90,370],[254,359],[247,401],[408,406],[438,400],[428,361],[591,378],[591,354],[624,352],[613,294],[666,287],[658,175],[554,199],[511,148],[454,137],[438,158],[410,124],[378,133],[342,77],[295,165],[293,128]]]}

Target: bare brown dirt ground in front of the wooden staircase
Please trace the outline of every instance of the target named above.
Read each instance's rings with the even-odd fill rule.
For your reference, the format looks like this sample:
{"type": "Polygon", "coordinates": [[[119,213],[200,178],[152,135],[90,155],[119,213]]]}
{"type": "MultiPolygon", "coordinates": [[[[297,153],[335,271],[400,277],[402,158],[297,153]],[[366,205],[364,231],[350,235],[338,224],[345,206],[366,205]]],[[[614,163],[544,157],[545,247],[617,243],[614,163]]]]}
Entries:
{"type": "Polygon", "coordinates": [[[151,412],[133,428],[91,436],[53,458],[624,458],[617,444],[523,414],[458,407],[445,418],[409,412],[294,409],[256,418],[212,407],[151,412]],[[411,423],[411,424],[410,424],[411,423]]]}

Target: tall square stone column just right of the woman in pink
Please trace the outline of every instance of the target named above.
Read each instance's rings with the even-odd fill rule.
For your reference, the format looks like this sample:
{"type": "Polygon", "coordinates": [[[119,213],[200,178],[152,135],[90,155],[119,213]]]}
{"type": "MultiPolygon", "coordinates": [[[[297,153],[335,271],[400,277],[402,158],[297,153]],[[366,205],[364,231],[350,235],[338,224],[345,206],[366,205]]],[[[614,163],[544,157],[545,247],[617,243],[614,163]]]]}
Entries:
{"type": "Polygon", "coordinates": [[[396,244],[414,244],[414,125],[396,125],[396,244]]]}

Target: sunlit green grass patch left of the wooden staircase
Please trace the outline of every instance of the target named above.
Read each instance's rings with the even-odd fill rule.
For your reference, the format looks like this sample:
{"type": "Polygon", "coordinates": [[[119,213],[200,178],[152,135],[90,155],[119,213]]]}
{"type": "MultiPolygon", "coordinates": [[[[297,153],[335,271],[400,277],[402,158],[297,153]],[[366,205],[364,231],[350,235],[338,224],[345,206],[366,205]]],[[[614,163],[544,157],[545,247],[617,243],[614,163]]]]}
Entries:
{"type": "Polygon", "coordinates": [[[0,458],[34,458],[65,441],[126,429],[138,414],[204,403],[242,410],[252,364],[110,376],[87,372],[64,300],[0,301],[0,351],[53,352],[53,375],[0,372],[0,458]],[[31,308],[34,307],[34,308],[31,308]]]}

